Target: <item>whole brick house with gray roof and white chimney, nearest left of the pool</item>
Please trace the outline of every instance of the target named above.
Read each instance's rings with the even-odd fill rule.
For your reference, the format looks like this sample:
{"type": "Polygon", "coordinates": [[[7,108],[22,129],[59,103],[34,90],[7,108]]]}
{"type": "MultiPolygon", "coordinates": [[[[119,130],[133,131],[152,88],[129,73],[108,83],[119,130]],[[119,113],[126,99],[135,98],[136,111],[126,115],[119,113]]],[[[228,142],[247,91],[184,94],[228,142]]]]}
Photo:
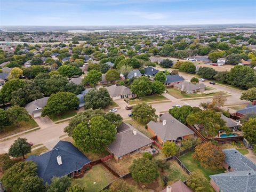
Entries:
{"type": "Polygon", "coordinates": [[[163,114],[159,119],[160,122],[150,121],[147,126],[151,135],[157,136],[157,140],[162,144],[166,141],[174,141],[180,145],[182,140],[194,135],[194,131],[169,113],[163,114]]]}

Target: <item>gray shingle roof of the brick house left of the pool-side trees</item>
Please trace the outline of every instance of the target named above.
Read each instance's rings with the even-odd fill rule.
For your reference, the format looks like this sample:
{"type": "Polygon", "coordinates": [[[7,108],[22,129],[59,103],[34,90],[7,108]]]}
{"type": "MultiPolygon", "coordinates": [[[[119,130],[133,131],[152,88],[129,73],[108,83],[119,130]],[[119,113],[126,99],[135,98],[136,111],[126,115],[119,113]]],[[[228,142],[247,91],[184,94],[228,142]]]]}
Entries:
{"type": "Polygon", "coordinates": [[[194,134],[194,131],[190,130],[186,125],[179,122],[171,114],[165,113],[160,119],[163,121],[166,120],[166,125],[159,122],[150,121],[147,125],[150,127],[158,137],[162,139],[163,142],[171,140],[177,140],[179,137],[185,135],[194,134]]]}

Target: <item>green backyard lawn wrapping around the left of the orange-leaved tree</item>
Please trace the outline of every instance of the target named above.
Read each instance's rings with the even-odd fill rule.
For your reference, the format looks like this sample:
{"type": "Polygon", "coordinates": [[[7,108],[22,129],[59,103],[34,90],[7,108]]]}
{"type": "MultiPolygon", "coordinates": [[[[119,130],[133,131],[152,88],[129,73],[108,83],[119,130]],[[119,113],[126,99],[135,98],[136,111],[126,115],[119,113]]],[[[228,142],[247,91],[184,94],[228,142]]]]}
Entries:
{"type": "MultiPolygon", "coordinates": [[[[192,158],[192,154],[194,152],[190,151],[187,154],[184,154],[182,156],[179,157],[180,161],[188,168],[189,171],[194,172],[200,172],[204,175],[204,177],[210,182],[210,177],[209,175],[213,175],[213,174],[219,174],[219,173],[224,173],[225,169],[220,169],[220,170],[215,170],[215,171],[211,171],[208,169],[204,169],[199,161],[197,161],[196,159],[192,158]]],[[[210,186],[207,186],[208,190],[207,191],[214,191],[214,189],[210,186]]]]}

